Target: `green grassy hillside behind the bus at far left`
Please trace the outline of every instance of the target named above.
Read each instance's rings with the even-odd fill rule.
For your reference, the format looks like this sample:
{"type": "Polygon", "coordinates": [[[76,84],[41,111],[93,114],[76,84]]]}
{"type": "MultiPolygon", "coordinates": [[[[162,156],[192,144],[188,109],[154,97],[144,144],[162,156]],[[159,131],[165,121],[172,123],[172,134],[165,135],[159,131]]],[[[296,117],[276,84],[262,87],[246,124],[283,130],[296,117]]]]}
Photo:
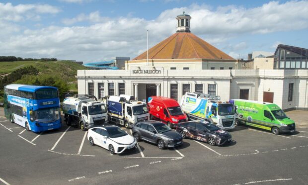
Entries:
{"type": "Polygon", "coordinates": [[[39,70],[40,74],[59,76],[64,78],[67,82],[76,81],[75,76],[77,75],[77,70],[88,69],[82,65],[75,62],[41,62],[41,61],[17,61],[17,62],[0,62],[0,75],[5,75],[11,73],[19,68],[33,66],[39,70]]]}

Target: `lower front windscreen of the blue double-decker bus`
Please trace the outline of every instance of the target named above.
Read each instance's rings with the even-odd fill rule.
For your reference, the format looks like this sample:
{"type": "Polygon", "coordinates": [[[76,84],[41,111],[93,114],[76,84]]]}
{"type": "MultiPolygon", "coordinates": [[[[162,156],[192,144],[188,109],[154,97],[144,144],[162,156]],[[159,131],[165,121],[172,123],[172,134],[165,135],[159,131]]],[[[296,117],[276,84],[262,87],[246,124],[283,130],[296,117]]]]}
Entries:
{"type": "Polygon", "coordinates": [[[31,113],[30,119],[42,123],[54,122],[60,119],[60,109],[59,107],[38,109],[31,113]]]}

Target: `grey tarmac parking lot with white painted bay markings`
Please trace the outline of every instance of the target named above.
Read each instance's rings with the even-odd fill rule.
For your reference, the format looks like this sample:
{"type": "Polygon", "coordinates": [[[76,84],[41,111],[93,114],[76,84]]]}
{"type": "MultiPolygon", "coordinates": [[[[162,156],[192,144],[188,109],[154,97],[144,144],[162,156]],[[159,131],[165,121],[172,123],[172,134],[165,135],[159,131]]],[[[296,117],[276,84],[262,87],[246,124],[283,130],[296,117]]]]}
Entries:
{"type": "Polygon", "coordinates": [[[0,116],[0,184],[308,183],[308,125],[297,125],[291,135],[247,126],[230,133],[232,142],[224,146],[185,139],[160,150],[141,141],[133,152],[111,155],[66,124],[33,133],[0,116]]]}

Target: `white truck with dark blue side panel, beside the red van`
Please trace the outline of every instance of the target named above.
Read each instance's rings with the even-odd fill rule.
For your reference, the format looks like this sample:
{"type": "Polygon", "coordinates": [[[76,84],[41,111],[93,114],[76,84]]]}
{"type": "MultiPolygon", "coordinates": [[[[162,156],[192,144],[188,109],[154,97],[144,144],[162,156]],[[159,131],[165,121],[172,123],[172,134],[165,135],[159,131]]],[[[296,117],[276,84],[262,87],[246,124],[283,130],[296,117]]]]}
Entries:
{"type": "Polygon", "coordinates": [[[108,121],[133,128],[138,121],[148,120],[147,103],[135,101],[134,96],[121,94],[107,98],[108,121]]]}

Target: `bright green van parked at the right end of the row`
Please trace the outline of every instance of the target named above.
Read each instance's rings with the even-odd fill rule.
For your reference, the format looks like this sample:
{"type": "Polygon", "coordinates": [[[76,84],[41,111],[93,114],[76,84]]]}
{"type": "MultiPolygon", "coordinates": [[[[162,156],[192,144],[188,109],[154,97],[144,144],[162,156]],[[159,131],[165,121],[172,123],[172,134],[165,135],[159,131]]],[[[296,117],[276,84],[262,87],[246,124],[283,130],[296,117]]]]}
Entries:
{"type": "Polygon", "coordinates": [[[236,111],[236,122],[272,131],[273,134],[295,131],[295,122],[281,108],[268,102],[231,99],[236,111]]]}

